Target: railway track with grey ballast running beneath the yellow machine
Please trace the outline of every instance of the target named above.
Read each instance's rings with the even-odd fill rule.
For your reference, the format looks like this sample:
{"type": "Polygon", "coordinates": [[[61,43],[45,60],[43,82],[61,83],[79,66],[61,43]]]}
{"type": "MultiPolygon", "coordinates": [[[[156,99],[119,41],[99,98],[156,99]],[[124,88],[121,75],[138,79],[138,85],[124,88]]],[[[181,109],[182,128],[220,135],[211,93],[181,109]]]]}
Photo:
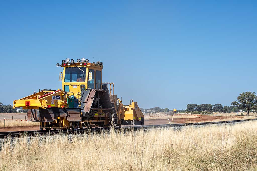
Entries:
{"type": "MultiPolygon", "coordinates": [[[[183,126],[199,126],[199,125],[211,125],[211,124],[229,124],[229,123],[238,123],[238,122],[246,122],[246,121],[252,121],[257,120],[256,119],[243,119],[243,120],[231,120],[231,121],[220,121],[220,122],[199,122],[199,123],[183,123],[183,124],[164,124],[164,125],[144,125],[144,126],[124,126],[122,128],[117,129],[124,129],[125,131],[128,130],[147,130],[147,129],[153,129],[153,128],[168,128],[168,127],[183,127],[183,126]]],[[[49,135],[57,135],[57,134],[82,134],[87,132],[99,132],[99,131],[105,131],[110,130],[110,128],[91,128],[88,129],[82,129],[78,131],[71,131],[68,129],[57,129],[57,130],[42,130],[42,131],[15,131],[15,132],[0,132],[0,138],[15,138],[15,137],[32,137],[32,136],[49,136],[49,135]]]]}

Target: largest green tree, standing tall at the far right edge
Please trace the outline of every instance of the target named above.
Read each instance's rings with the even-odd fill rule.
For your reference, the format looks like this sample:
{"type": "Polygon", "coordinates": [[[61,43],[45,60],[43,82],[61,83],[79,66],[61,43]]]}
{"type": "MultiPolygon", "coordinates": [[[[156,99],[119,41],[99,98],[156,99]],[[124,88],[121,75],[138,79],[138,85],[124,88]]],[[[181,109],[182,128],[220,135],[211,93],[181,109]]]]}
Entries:
{"type": "Polygon", "coordinates": [[[237,97],[237,101],[232,102],[232,105],[237,106],[240,109],[246,109],[247,114],[249,115],[249,111],[257,102],[256,98],[257,97],[254,92],[244,92],[237,97]]]}

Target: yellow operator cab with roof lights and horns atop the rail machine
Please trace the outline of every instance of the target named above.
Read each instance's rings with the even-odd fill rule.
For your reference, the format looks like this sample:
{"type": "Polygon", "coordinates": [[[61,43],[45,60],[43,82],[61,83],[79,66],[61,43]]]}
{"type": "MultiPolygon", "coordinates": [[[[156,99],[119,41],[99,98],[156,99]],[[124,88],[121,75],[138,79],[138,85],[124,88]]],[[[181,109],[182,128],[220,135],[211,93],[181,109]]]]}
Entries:
{"type": "Polygon", "coordinates": [[[60,73],[59,81],[62,81],[62,88],[65,92],[78,98],[80,92],[87,88],[102,89],[102,69],[103,63],[89,63],[88,59],[66,58],[62,64],[56,65],[63,67],[63,73],[60,73]]]}

